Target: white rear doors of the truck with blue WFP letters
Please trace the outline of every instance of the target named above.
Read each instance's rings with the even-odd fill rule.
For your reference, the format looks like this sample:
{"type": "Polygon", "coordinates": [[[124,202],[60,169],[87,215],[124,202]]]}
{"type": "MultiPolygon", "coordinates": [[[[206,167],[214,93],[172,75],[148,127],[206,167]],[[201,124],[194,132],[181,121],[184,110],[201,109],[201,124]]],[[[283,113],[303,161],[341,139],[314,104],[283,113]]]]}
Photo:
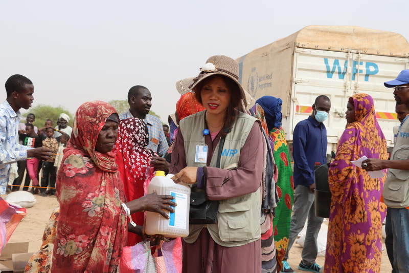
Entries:
{"type": "MultiPolygon", "coordinates": [[[[324,94],[330,97],[332,104],[330,116],[324,122],[328,142],[337,143],[346,125],[348,98],[356,93],[366,93],[374,98],[378,122],[388,145],[393,144],[393,127],[399,122],[395,114],[396,102],[391,89],[385,88],[383,82],[394,79],[405,69],[407,63],[403,61],[407,59],[326,50],[300,51],[296,54],[291,92],[293,115],[288,133],[292,134],[295,125],[310,115],[309,107],[315,97],[324,94]]],[[[288,139],[292,137],[288,136],[288,139]]]]}

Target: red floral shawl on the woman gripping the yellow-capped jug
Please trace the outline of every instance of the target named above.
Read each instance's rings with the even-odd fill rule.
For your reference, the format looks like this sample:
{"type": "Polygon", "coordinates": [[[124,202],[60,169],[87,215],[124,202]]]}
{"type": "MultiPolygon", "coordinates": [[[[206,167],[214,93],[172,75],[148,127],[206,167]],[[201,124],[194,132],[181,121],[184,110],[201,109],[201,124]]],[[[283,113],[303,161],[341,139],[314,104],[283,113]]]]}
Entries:
{"type": "Polygon", "coordinates": [[[103,101],[83,103],[57,175],[60,202],[53,272],[117,272],[127,226],[123,183],[115,154],[95,151],[107,118],[116,113],[103,101]]]}

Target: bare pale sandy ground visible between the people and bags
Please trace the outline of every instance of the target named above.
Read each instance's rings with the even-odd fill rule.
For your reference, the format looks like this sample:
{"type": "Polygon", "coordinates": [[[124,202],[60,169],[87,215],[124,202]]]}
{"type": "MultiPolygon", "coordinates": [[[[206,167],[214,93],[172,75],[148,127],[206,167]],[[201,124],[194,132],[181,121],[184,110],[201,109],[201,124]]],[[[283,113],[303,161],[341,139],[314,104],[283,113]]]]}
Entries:
{"type": "MultiPolygon", "coordinates": [[[[20,222],[9,241],[11,243],[29,242],[30,252],[35,252],[40,248],[45,224],[49,220],[54,208],[58,206],[57,199],[54,195],[47,197],[35,195],[35,197],[37,199],[37,203],[31,208],[27,208],[26,218],[20,222]]],[[[302,249],[303,248],[299,244],[294,243],[290,251],[289,264],[294,270],[296,270],[296,272],[305,272],[297,269],[297,266],[301,261],[302,249]]],[[[320,265],[323,265],[324,257],[317,257],[316,262],[320,265]]],[[[385,249],[382,251],[381,273],[387,273],[391,271],[392,267],[389,263],[387,252],[385,249]]]]}

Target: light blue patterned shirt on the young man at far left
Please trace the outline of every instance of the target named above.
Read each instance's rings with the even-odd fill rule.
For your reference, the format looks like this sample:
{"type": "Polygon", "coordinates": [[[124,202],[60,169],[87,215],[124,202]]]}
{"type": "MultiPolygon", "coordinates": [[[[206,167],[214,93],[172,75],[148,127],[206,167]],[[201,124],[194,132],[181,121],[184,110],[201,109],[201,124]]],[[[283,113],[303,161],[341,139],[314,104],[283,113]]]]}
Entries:
{"type": "Polygon", "coordinates": [[[14,112],[6,100],[0,104],[0,194],[6,194],[10,163],[27,159],[27,146],[19,144],[20,111],[14,112]]]}

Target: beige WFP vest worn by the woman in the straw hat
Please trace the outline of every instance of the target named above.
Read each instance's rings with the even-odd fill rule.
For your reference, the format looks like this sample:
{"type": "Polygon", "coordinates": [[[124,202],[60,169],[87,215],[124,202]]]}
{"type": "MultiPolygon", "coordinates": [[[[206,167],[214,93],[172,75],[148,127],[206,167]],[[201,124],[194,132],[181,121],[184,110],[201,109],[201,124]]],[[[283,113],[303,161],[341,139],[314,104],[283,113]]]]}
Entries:
{"type": "MultiPolygon", "coordinates": [[[[179,130],[183,135],[187,166],[204,167],[206,163],[195,163],[196,145],[202,143],[205,129],[205,113],[202,111],[180,121],[179,130]]],[[[240,151],[250,133],[254,122],[258,119],[237,111],[232,131],[225,137],[220,158],[220,168],[230,170],[239,167],[240,151]]],[[[214,149],[210,167],[216,167],[219,144],[214,149]]],[[[255,183],[256,181],[248,181],[255,183]]],[[[229,183],[226,182],[226,183],[229,183]]],[[[261,181],[257,181],[261,185],[261,181]]],[[[221,246],[241,246],[254,242],[261,237],[260,233],[260,188],[239,197],[220,200],[215,224],[208,224],[213,240],[221,246]]],[[[196,241],[205,225],[189,225],[187,243],[196,241]]]]}

